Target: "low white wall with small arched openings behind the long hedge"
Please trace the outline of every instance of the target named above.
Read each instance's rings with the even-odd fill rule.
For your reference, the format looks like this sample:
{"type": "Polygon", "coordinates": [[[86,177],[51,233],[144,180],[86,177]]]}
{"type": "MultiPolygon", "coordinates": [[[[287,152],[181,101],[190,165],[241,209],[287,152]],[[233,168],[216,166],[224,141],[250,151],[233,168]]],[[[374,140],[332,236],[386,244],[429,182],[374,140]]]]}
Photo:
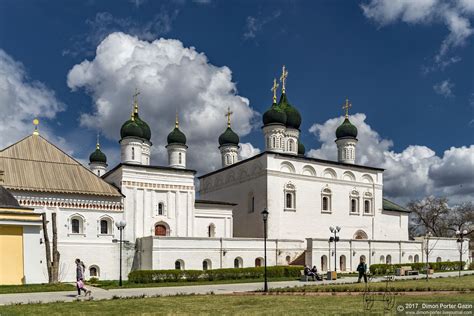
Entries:
{"type": "MultiPolygon", "coordinates": [[[[186,270],[202,270],[204,260],[210,260],[212,269],[233,268],[236,258],[242,259],[243,267],[255,267],[255,259],[264,258],[263,239],[147,237],[142,246],[151,247],[151,243],[154,270],[174,269],[176,260],[182,260],[186,270]]],[[[267,240],[267,264],[286,265],[286,257],[294,259],[303,250],[302,240],[267,240]]],[[[149,265],[148,261],[144,266],[149,265]]]]}

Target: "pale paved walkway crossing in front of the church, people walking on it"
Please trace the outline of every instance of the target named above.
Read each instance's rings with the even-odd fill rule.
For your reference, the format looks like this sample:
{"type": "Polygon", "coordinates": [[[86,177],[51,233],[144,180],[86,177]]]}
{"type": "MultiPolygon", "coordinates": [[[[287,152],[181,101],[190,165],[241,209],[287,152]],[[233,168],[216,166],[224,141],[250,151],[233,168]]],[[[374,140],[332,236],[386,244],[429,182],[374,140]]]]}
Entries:
{"type": "MultiPolygon", "coordinates": [[[[463,271],[463,275],[474,274],[474,271],[463,271]]],[[[430,278],[454,277],[458,272],[436,273],[430,278]]],[[[423,279],[425,275],[395,277],[397,280],[403,279],[423,279]]],[[[377,277],[372,282],[381,282],[383,277],[377,277]]],[[[269,288],[281,288],[287,286],[304,286],[318,284],[345,284],[357,282],[356,277],[345,277],[334,281],[319,282],[300,282],[300,281],[282,281],[270,282],[269,288]]],[[[177,294],[232,294],[242,292],[253,292],[263,289],[263,284],[258,283],[234,283],[234,284],[206,284],[206,285],[189,285],[189,286],[170,286],[170,287],[148,287],[148,288],[125,288],[104,290],[100,288],[89,288],[92,290],[94,300],[112,299],[113,297],[138,297],[138,296],[168,296],[177,294]]],[[[84,299],[84,298],[81,298],[84,299]]],[[[75,291],[69,292],[38,292],[38,293],[18,293],[18,294],[1,294],[0,305],[8,304],[28,304],[28,303],[48,303],[48,302],[71,302],[76,300],[75,291]]]]}

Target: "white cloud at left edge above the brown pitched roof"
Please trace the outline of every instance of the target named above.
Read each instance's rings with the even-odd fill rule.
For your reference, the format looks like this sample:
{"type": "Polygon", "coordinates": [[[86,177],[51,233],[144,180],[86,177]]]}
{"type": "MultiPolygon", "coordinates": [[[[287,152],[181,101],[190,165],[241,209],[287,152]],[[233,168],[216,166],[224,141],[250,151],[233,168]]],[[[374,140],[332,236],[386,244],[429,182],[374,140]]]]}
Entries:
{"type": "Polygon", "coordinates": [[[33,119],[40,118],[40,133],[71,152],[64,140],[41,120],[53,119],[64,107],[54,91],[29,78],[23,64],[0,49],[0,148],[31,134],[33,119]]]}

